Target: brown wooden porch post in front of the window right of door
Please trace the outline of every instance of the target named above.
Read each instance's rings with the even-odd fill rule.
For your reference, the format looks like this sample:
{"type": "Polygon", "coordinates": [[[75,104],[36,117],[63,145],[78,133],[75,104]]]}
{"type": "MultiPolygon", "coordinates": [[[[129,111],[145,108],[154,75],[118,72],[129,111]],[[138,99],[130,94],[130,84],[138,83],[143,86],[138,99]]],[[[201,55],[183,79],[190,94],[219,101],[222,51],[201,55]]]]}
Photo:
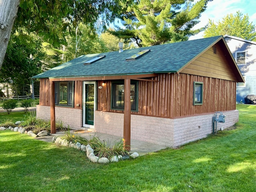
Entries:
{"type": "Polygon", "coordinates": [[[130,79],[124,80],[124,148],[131,150],[131,98],[130,79]]]}

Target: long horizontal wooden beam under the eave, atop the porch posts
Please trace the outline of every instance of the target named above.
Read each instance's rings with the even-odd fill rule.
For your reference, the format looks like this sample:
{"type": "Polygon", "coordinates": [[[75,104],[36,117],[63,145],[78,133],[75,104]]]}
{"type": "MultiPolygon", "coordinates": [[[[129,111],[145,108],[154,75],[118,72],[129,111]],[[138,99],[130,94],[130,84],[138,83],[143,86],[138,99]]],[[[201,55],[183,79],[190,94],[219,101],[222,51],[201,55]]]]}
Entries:
{"type": "Polygon", "coordinates": [[[92,77],[60,77],[49,78],[50,81],[95,81],[95,80],[120,80],[120,79],[133,79],[133,78],[148,78],[157,77],[158,74],[138,74],[138,75],[118,75],[118,76],[92,76],[92,77]]]}

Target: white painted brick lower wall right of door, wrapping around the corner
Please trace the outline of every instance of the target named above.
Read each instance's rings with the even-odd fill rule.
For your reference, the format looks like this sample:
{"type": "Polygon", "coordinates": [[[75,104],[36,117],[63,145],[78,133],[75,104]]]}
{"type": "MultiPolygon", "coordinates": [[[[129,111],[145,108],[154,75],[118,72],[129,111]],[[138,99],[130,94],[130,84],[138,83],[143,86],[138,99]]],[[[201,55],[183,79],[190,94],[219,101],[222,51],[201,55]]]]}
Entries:
{"type": "MultiPolygon", "coordinates": [[[[225,111],[225,123],[218,123],[227,128],[238,122],[238,110],[225,111]]],[[[159,118],[131,115],[131,139],[150,142],[175,148],[191,141],[205,138],[212,133],[214,114],[191,116],[185,118],[159,118]]],[[[112,112],[95,112],[95,131],[104,134],[123,136],[124,114],[112,112]]]]}

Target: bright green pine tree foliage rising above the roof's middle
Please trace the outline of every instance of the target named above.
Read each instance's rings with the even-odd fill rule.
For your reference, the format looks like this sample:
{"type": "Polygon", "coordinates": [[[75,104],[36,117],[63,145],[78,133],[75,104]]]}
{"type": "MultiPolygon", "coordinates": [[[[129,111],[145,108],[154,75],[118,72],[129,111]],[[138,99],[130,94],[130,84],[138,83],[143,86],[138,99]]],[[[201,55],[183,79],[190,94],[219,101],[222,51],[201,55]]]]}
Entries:
{"type": "Polygon", "coordinates": [[[192,30],[207,3],[211,0],[140,0],[128,6],[120,19],[125,29],[118,27],[112,34],[139,47],[188,40],[202,30],[192,30]]]}

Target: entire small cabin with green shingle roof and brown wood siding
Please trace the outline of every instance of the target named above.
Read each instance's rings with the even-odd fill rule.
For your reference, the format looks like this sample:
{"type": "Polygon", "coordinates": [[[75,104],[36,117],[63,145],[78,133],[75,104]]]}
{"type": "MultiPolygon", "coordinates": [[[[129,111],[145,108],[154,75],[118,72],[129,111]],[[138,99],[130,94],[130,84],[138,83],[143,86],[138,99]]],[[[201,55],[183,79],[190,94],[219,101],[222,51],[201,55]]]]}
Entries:
{"type": "Polygon", "coordinates": [[[214,112],[218,129],[238,122],[244,82],[223,36],[83,55],[33,78],[38,117],[172,148],[211,134],[214,112]]]}

